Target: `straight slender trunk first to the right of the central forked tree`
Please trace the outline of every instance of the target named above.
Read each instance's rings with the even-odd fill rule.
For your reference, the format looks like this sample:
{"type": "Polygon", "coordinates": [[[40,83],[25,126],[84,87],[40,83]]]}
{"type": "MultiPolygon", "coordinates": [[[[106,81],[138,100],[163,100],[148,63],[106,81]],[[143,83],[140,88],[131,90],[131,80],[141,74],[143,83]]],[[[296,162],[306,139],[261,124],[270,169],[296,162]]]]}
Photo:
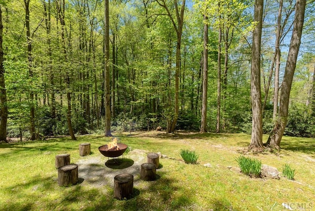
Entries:
{"type": "MultiPolygon", "coordinates": [[[[208,17],[203,16],[204,22],[208,17]]],[[[208,101],[208,23],[203,25],[203,81],[202,81],[202,111],[200,133],[207,132],[207,101],[208,101]]]]}

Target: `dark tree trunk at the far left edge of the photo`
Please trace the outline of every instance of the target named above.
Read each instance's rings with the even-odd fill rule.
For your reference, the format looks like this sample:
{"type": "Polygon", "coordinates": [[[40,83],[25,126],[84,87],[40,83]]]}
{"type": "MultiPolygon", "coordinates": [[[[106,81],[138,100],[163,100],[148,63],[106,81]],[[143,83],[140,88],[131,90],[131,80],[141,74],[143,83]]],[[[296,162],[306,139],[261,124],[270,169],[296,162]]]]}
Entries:
{"type": "Polygon", "coordinates": [[[6,90],[4,81],[4,68],[3,68],[3,24],[2,24],[2,10],[0,5],[0,141],[6,141],[6,122],[8,118],[8,108],[6,104],[6,90]]]}

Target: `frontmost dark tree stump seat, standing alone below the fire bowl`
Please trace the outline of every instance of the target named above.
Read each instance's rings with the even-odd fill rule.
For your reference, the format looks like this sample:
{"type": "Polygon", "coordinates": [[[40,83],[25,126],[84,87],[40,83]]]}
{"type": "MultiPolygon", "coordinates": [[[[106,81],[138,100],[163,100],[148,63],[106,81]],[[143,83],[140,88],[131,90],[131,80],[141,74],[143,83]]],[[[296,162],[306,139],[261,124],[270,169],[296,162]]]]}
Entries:
{"type": "Polygon", "coordinates": [[[133,191],[133,175],[120,174],[114,177],[114,198],[123,200],[130,198],[133,191]]]}

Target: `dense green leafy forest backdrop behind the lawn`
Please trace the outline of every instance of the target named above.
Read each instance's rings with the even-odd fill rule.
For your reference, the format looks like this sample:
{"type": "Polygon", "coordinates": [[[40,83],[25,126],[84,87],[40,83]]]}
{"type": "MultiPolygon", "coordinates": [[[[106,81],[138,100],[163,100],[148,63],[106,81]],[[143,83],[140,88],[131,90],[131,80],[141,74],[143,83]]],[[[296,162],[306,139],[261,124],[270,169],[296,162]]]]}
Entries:
{"type": "Polygon", "coordinates": [[[158,126],[251,134],[255,105],[262,134],[285,119],[283,135],[315,137],[314,9],[314,0],[0,0],[0,140],[158,126]]]}

